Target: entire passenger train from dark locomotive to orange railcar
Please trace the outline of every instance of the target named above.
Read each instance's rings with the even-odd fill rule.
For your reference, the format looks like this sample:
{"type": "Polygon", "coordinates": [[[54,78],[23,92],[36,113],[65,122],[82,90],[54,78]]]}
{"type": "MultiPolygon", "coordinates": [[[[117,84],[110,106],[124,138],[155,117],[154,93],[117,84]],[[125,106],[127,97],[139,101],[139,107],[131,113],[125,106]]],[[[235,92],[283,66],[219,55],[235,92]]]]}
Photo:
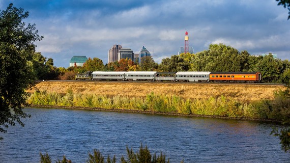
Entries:
{"type": "Polygon", "coordinates": [[[148,82],[228,82],[260,83],[260,72],[209,72],[209,71],[88,71],[75,75],[76,80],[116,80],[148,82]]]}

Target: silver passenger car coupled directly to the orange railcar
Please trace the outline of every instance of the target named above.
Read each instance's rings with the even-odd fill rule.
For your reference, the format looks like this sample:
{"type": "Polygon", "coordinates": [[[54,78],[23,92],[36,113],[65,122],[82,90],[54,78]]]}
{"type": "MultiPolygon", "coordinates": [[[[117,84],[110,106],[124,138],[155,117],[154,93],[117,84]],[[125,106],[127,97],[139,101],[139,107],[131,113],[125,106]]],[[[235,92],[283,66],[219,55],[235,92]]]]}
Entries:
{"type": "Polygon", "coordinates": [[[180,71],[176,73],[176,80],[177,82],[209,82],[210,73],[209,71],[180,71]]]}

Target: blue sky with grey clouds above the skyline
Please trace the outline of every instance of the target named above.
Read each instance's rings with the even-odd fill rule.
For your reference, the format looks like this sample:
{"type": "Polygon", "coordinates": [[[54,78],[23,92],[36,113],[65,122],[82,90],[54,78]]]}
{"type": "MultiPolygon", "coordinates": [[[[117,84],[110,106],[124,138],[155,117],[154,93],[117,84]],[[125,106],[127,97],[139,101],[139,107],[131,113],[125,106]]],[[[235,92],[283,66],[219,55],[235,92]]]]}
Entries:
{"type": "Polygon", "coordinates": [[[0,10],[29,11],[44,39],[36,51],[69,67],[73,56],[108,62],[114,44],[139,53],[145,46],[156,63],[177,55],[188,32],[194,53],[225,44],[251,55],[275,53],[290,60],[288,10],[275,0],[0,0],[0,10]]]}

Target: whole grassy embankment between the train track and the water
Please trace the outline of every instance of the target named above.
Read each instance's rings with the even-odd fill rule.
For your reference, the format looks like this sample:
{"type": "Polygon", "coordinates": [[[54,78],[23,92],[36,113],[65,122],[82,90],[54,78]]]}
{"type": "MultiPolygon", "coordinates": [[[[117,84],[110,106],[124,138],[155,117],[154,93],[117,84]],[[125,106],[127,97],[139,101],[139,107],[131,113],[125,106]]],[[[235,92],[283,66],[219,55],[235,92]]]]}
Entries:
{"type": "Polygon", "coordinates": [[[281,100],[287,99],[277,94],[285,89],[245,84],[44,81],[28,91],[27,102],[46,107],[280,121],[285,117],[281,100]]]}

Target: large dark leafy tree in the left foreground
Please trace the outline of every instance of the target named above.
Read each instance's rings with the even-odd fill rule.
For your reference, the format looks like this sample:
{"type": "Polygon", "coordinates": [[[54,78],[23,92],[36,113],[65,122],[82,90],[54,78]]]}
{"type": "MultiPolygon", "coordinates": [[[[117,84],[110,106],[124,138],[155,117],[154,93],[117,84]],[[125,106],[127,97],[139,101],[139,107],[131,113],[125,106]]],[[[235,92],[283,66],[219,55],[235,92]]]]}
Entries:
{"type": "MultiPolygon", "coordinates": [[[[15,121],[24,126],[21,118],[30,117],[23,112],[28,93],[34,83],[32,67],[36,45],[43,36],[38,35],[35,24],[23,22],[28,12],[9,4],[0,13],[0,131],[7,132],[15,121]]],[[[2,137],[0,139],[3,139],[2,137]]]]}

